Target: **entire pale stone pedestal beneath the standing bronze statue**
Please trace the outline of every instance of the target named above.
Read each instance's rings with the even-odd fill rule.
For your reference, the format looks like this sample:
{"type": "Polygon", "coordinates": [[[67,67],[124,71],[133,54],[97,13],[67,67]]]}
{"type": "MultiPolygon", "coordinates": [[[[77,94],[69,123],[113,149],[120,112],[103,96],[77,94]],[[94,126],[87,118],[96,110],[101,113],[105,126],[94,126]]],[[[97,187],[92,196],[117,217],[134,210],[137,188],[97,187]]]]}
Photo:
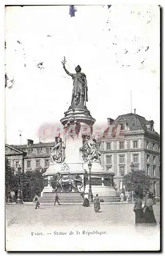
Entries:
{"type": "MultiPolygon", "coordinates": [[[[45,186],[43,193],[53,191],[49,182],[50,178],[57,172],[62,173],[63,176],[69,174],[78,174],[84,180],[83,190],[88,193],[89,185],[87,177],[89,176],[88,162],[85,162],[82,157],[80,148],[83,146],[83,139],[85,136],[92,135],[92,125],[95,119],[92,118],[86,106],[70,106],[64,113],[65,117],[60,121],[64,126],[63,142],[65,148],[64,163],[67,164],[63,168],[64,163],[51,163],[49,168],[43,174],[45,179],[48,179],[48,186],[45,186]]],[[[91,160],[91,189],[93,196],[116,197],[116,191],[113,188],[113,172],[105,172],[99,160],[91,160]]]]}

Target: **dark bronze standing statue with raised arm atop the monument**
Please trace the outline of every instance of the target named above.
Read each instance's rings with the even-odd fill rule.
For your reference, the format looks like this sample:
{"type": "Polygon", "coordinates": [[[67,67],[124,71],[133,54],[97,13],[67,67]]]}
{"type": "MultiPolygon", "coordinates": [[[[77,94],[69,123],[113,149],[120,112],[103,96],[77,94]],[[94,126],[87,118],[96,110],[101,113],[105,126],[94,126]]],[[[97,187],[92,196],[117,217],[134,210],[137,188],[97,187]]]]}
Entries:
{"type": "Polygon", "coordinates": [[[65,60],[62,61],[62,65],[66,74],[69,76],[72,76],[72,79],[73,79],[71,105],[83,106],[84,104],[86,104],[86,101],[88,101],[86,75],[84,73],[81,73],[81,67],[79,65],[75,69],[76,74],[71,74],[66,70],[65,60]]]}

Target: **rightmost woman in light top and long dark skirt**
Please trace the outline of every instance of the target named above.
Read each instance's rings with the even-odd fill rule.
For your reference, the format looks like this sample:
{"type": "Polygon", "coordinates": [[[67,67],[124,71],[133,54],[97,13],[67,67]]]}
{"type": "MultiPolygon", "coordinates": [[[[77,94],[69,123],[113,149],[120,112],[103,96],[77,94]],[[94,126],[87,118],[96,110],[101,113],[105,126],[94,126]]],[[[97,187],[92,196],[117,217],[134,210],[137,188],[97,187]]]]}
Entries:
{"type": "Polygon", "coordinates": [[[144,206],[144,221],[145,223],[156,226],[157,224],[154,216],[154,211],[152,208],[152,206],[156,203],[152,197],[153,197],[152,193],[149,193],[149,198],[146,199],[145,206],[144,206]]]}

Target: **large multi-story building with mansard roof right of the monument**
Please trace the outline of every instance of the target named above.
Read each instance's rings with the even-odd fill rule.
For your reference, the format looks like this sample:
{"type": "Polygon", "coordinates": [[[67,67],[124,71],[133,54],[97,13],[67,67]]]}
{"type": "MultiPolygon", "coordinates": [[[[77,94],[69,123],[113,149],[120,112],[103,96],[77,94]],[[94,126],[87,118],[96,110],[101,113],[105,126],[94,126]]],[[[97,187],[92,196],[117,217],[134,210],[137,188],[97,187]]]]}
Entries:
{"type": "Polygon", "coordinates": [[[123,176],[134,170],[145,170],[151,177],[151,191],[159,196],[160,137],[154,130],[154,121],[147,121],[135,113],[108,118],[108,128],[97,140],[101,164],[115,173],[117,189],[122,189],[123,176]]]}

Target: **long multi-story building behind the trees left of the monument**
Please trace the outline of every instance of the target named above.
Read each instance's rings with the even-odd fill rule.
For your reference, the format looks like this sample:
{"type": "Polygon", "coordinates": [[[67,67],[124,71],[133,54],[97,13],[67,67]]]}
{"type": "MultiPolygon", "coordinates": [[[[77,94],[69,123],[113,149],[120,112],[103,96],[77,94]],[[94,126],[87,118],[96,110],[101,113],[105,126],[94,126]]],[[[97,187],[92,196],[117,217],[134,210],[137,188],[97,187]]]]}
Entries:
{"type": "Polygon", "coordinates": [[[50,164],[50,153],[55,142],[36,143],[28,139],[26,145],[5,145],[5,154],[11,166],[15,168],[21,167],[21,172],[27,170],[42,170],[48,168],[50,164]]]}

